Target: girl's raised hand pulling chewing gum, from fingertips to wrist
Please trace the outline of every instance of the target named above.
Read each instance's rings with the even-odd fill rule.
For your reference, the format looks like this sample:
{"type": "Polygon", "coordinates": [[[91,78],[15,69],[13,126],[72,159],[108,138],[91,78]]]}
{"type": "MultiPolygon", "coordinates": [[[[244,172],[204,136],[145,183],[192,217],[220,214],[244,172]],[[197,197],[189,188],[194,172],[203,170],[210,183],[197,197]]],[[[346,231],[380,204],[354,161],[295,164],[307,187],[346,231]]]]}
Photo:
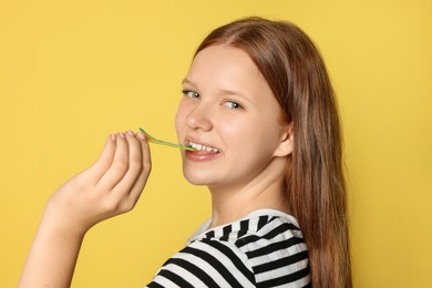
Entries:
{"type": "Polygon", "coordinates": [[[68,229],[85,233],[94,224],[131,210],[151,171],[148,145],[133,132],[107,137],[100,158],[64,183],[47,212],[68,229]]]}

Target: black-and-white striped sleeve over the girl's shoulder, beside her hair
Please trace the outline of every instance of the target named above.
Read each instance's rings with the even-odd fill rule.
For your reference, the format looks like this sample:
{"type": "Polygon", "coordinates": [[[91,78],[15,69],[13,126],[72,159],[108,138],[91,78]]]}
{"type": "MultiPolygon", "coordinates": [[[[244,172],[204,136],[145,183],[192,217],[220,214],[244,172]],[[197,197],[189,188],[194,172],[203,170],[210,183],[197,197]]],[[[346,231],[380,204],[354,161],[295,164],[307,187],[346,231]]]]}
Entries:
{"type": "Polygon", "coordinates": [[[305,287],[310,281],[306,243],[297,220],[288,216],[259,216],[235,241],[261,287],[305,287]]]}

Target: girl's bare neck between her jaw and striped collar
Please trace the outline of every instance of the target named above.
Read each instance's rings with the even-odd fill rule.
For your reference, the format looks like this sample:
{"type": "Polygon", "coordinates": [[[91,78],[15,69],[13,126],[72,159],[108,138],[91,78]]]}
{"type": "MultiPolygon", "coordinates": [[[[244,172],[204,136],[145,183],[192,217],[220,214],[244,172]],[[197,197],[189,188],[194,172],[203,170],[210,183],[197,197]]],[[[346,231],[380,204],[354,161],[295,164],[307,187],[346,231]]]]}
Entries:
{"type": "Polygon", "coordinates": [[[246,184],[209,187],[213,206],[209,228],[232,223],[257,209],[289,213],[284,195],[285,165],[285,158],[276,158],[246,184]]]}

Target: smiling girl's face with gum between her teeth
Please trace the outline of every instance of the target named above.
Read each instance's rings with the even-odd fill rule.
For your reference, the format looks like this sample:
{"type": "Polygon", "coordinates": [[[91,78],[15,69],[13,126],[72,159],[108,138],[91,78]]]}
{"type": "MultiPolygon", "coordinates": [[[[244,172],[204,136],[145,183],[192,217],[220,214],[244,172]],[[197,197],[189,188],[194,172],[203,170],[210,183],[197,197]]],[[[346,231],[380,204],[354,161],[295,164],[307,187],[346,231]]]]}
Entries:
{"type": "MultiPolygon", "coordinates": [[[[184,96],[175,124],[183,151],[183,173],[195,185],[241,188],[275,157],[287,125],[280,106],[258,68],[243,51],[213,45],[200,51],[183,81],[184,96]]],[[[276,173],[276,172],[275,172],[276,173]]]]}

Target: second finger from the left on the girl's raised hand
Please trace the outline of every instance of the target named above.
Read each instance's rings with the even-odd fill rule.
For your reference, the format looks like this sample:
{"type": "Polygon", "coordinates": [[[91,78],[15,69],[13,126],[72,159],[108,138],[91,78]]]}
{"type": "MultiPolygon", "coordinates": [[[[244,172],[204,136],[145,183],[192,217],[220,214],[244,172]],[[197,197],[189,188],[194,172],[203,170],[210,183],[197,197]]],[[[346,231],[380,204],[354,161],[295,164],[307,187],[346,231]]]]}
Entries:
{"type": "Polygon", "coordinates": [[[119,133],[113,162],[106,173],[101,177],[97,186],[103,191],[112,191],[124,177],[128,168],[128,144],[126,136],[119,133]]]}

